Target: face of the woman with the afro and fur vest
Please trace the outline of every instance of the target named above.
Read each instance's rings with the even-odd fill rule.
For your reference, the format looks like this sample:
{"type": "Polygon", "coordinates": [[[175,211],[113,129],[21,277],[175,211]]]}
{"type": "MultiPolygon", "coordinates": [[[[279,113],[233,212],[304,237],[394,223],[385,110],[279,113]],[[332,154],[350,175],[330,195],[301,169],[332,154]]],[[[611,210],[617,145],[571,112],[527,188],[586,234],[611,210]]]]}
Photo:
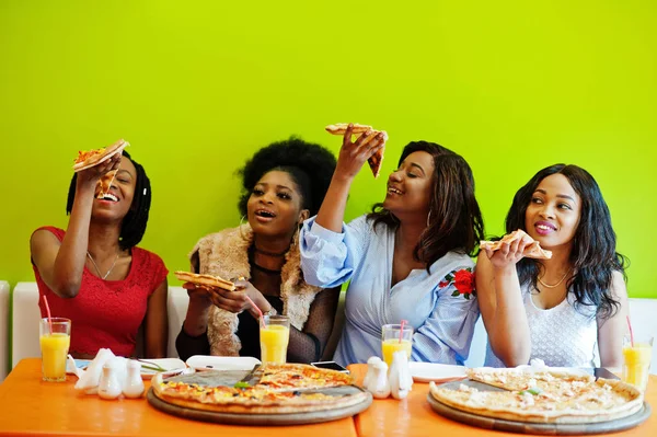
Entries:
{"type": "Polygon", "coordinates": [[[290,174],[273,170],[251,192],[246,204],[249,225],[256,235],[291,238],[308,218],[308,209],[302,209],[302,205],[300,189],[290,174]]]}

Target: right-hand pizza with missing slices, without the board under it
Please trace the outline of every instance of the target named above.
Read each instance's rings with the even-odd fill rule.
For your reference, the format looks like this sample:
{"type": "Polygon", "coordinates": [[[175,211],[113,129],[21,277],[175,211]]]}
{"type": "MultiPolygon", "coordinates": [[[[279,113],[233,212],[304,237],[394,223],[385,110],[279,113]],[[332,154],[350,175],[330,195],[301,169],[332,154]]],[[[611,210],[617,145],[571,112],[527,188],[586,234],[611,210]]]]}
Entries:
{"type": "Polygon", "coordinates": [[[576,369],[493,369],[468,371],[470,381],[504,390],[430,383],[431,396],[452,409],[516,422],[584,424],[630,416],[643,407],[643,393],[619,380],[576,369]]]}

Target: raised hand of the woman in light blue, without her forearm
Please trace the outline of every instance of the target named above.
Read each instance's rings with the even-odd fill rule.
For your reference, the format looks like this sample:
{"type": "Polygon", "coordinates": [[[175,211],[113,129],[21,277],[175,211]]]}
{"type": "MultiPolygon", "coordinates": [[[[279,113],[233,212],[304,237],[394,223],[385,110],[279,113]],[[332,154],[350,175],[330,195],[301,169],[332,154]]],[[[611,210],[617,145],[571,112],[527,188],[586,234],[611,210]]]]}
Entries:
{"type": "Polygon", "coordinates": [[[343,137],[335,166],[335,175],[348,179],[356,176],[365,161],[382,148],[385,141],[385,134],[376,130],[361,134],[356,141],[351,141],[353,129],[354,124],[350,123],[343,137]]]}

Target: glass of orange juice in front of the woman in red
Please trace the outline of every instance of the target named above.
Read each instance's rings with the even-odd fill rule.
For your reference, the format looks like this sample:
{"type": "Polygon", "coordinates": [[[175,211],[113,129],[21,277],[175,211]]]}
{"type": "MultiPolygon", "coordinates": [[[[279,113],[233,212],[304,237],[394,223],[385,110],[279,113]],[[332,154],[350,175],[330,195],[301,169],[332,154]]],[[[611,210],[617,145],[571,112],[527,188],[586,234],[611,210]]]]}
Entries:
{"type": "Polygon", "coordinates": [[[66,360],[71,343],[71,321],[45,318],[39,322],[42,376],[44,381],[66,381],[66,360]]]}

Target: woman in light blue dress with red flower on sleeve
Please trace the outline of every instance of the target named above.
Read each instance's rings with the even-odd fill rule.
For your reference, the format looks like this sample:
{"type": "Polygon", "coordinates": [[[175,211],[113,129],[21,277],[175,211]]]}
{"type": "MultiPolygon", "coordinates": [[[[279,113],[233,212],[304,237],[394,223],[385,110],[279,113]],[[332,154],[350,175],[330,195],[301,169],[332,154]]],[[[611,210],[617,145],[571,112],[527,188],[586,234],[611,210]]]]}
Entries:
{"type": "Polygon", "coordinates": [[[351,182],[383,139],[345,134],[324,203],[301,230],[304,278],[320,287],[350,280],[337,363],[381,356],[381,326],[403,319],[414,329],[413,360],[462,364],[479,317],[470,255],[484,234],[472,171],[451,150],[411,142],[383,203],[345,225],[351,182]]]}

